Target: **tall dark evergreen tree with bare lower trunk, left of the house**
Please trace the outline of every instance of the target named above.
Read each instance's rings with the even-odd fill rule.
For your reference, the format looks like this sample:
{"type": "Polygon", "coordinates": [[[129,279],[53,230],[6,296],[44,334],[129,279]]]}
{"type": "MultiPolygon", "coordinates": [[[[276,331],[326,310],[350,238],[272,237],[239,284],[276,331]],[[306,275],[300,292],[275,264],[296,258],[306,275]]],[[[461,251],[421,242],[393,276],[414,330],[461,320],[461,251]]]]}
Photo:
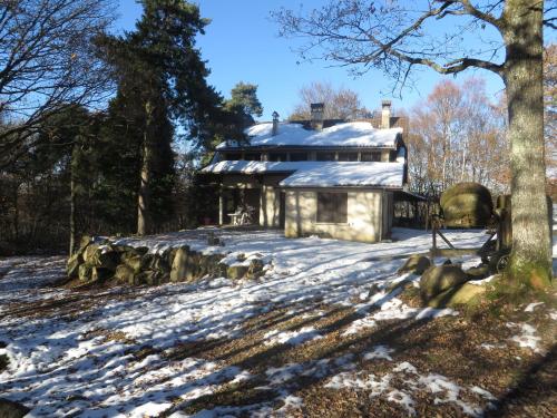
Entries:
{"type": "MultiPolygon", "coordinates": [[[[213,120],[222,103],[206,82],[209,71],[195,37],[204,33],[207,20],[199,9],[184,0],[141,0],[144,11],[134,32],[105,38],[99,43],[109,51],[120,84],[134,80],[141,86],[143,163],[138,189],[137,233],[149,233],[153,223],[153,174],[160,137],[157,120],[180,124],[196,145],[212,135],[213,120]]],[[[165,145],[166,146],[166,145],[165,145]]]]}

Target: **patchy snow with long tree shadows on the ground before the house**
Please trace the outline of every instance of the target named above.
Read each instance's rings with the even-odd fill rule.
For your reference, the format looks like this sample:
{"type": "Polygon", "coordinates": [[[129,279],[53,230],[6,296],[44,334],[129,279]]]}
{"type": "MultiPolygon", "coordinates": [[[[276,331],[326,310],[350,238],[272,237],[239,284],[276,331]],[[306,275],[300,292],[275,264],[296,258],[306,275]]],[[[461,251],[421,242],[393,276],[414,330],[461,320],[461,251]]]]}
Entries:
{"type": "MultiPolygon", "coordinates": [[[[447,235],[459,246],[479,246],[486,240],[478,231],[450,231],[447,235]]],[[[398,279],[395,271],[404,262],[403,255],[426,252],[430,241],[428,233],[403,229],[394,231],[392,243],[378,244],[319,237],[286,240],[273,231],[214,229],[125,239],[120,243],[147,245],[152,251],[187,244],[205,253],[226,253],[225,260],[231,262],[240,254],[256,256],[268,268],[258,281],[216,279],[196,284],[76,292],[87,303],[61,315],[20,314],[26,307],[32,311],[29,302],[71,302],[76,293],[48,288],[63,274],[60,257],[0,261],[0,342],[7,343],[0,354],[9,358],[8,369],[0,373],[0,392],[33,408],[35,417],[144,417],[162,411],[183,416],[177,410],[188,401],[251,376],[247,370],[219,361],[195,357],[173,360],[168,356],[173,348],[237,338],[246,320],[274,309],[353,307],[360,318],[346,327],[346,334],[374,327],[378,321],[456,314],[451,310],[410,308],[397,298],[397,292],[384,291],[398,279]],[[207,246],[208,234],[219,236],[225,245],[207,246]],[[370,288],[378,291],[371,292],[370,288]],[[145,350],[147,356],[137,356],[145,350]]],[[[529,341],[535,338],[528,336],[529,341]]],[[[266,336],[272,344],[300,344],[320,337],[319,330],[311,327],[275,330],[266,336]]],[[[378,346],[367,356],[372,361],[389,360],[389,350],[378,346]]],[[[267,386],[280,393],[276,399],[299,406],[300,400],[287,391],[290,380],[325,376],[333,366],[351,372],[351,361],[340,357],[270,369],[267,386]]],[[[412,375],[410,366],[400,369],[399,364],[401,371],[392,372],[416,375],[410,388],[441,388],[439,391],[444,391],[446,397],[439,401],[459,401],[458,388],[442,377],[412,375]]],[[[358,379],[372,388],[375,396],[388,397],[412,410],[411,393],[390,388],[389,379],[358,379]]],[[[468,406],[461,406],[467,411],[468,406]]],[[[238,410],[221,408],[222,414],[221,409],[205,412],[218,416],[248,410],[265,415],[270,407],[262,404],[238,410]]],[[[475,414],[475,407],[469,408],[475,414]]]]}

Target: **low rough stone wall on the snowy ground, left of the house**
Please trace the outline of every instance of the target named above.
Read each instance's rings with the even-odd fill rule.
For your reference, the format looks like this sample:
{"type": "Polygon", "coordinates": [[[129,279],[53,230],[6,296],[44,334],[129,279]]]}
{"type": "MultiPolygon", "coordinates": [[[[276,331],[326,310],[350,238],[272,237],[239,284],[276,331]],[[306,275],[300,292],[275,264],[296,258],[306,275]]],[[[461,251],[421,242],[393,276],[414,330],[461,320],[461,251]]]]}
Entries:
{"type": "Polygon", "coordinates": [[[240,259],[227,265],[221,262],[224,257],[225,254],[203,254],[187,245],[150,253],[145,246],[84,237],[77,253],[68,260],[67,273],[68,279],[82,283],[131,285],[195,282],[203,278],[256,279],[263,274],[264,264],[258,259],[240,259]]]}

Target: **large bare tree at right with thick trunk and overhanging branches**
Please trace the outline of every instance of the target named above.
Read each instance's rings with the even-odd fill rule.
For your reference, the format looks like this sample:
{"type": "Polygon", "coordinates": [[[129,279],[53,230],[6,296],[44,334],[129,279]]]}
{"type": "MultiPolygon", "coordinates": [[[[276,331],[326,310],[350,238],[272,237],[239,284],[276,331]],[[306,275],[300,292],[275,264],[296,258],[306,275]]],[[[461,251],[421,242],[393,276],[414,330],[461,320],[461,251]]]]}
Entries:
{"type": "Polygon", "coordinates": [[[307,39],[302,56],[352,66],[359,72],[380,68],[401,84],[416,66],[443,75],[480,68],[501,77],[511,149],[508,273],[532,288],[551,282],[543,28],[557,28],[557,6],[548,4],[544,9],[544,0],[336,0],[307,13],[285,9],[273,13],[283,36],[307,39]],[[446,25],[436,25],[440,20],[446,25]]]}

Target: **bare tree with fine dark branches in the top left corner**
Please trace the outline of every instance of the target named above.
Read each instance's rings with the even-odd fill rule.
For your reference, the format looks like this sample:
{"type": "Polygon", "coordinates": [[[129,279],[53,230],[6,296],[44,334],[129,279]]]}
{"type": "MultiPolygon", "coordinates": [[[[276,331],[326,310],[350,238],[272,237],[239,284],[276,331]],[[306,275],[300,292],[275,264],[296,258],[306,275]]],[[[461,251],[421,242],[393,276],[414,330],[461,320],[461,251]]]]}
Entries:
{"type": "Polygon", "coordinates": [[[104,98],[109,74],[92,40],[114,16],[113,0],[0,0],[0,168],[48,117],[104,98]]]}

